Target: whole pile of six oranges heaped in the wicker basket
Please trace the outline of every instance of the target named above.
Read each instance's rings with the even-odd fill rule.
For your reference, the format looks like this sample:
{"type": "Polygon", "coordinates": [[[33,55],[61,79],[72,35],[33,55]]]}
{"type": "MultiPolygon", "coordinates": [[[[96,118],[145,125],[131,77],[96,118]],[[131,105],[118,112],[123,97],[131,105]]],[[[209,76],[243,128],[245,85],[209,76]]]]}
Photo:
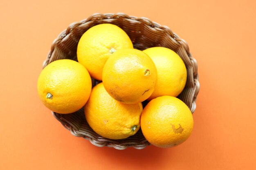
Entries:
{"type": "Polygon", "coordinates": [[[187,77],[177,53],[134,49],[121,28],[99,24],[79,40],[77,59],[56,60],[40,73],[38,94],[47,108],[67,114],[84,107],[90,127],[109,139],[127,138],[141,128],[151,144],[165,148],[190,136],[191,111],[176,98],[187,77]],[[102,82],[92,88],[91,77],[102,82]]]}

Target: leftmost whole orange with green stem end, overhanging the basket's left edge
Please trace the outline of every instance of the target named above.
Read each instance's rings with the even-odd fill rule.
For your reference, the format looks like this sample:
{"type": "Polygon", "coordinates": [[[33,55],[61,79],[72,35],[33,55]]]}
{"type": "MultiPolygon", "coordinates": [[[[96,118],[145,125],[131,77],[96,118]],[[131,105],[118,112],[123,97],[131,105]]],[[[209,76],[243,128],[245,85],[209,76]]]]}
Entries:
{"type": "Polygon", "coordinates": [[[48,64],[37,82],[40,100],[56,113],[73,113],[83,108],[91,90],[92,81],[88,71],[73,60],[56,60],[48,64]]]}

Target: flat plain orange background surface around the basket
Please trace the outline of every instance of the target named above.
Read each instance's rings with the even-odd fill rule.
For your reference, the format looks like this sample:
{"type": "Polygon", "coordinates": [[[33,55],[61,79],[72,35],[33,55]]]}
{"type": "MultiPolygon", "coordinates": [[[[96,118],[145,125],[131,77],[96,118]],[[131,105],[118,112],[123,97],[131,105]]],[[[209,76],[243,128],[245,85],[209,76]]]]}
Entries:
{"type": "Polygon", "coordinates": [[[0,19],[0,170],[256,169],[256,1],[2,0],[0,19]],[[201,88],[184,144],[99,148],[40,102],[36,82],[52,41],[96,12],[147,17],[188,42],[201,88]]]}

